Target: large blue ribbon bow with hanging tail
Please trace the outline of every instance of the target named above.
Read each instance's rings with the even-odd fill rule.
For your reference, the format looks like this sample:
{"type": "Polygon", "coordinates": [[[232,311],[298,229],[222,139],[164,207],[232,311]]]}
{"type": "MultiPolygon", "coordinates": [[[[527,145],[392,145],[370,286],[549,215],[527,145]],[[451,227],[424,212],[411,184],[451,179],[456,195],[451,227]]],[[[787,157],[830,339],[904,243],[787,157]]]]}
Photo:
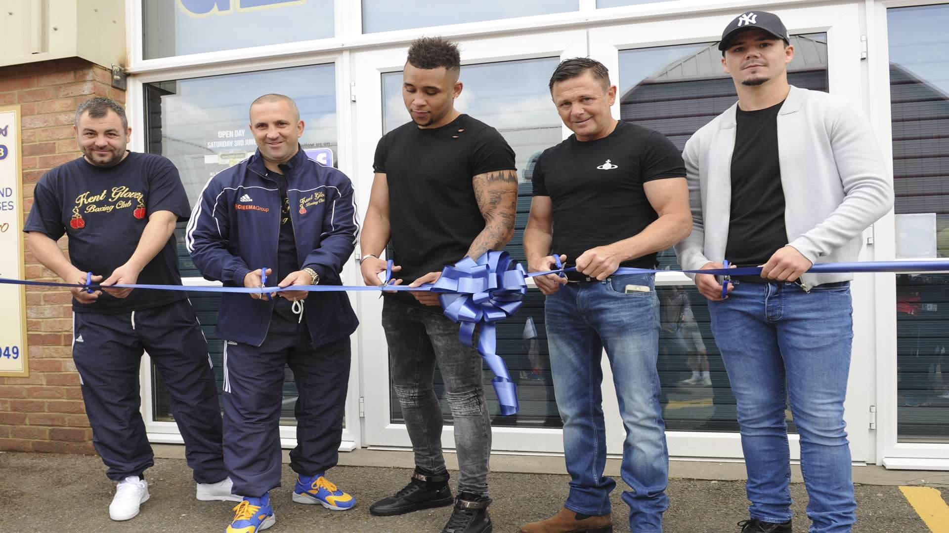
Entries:
{"type": "Polygon", "coordinates": [[[488,251],[475,261],[465,257],[454,267],[445,267],[432,286],[441,293],[438,301],[445,316],[461,324],[458,338],[467,346],[474,340],[474,326],[481,324],[477,351],[494,373],[494,394],[501,403],[501,414],[515,414],[517,385],[508,374],[497,350],[495,322],[502,322],[520,309],[527,294],[524,267],[506,251],[488,251]]]}

